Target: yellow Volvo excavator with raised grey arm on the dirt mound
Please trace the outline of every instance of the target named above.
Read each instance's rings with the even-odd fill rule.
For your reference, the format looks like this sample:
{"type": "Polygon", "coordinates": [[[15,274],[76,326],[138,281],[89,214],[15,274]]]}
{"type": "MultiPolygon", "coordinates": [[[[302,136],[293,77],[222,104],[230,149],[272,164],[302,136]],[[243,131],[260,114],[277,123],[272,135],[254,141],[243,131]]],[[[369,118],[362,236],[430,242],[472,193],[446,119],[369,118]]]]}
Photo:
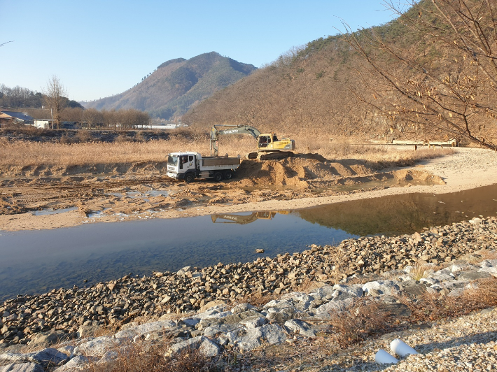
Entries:
{"type": "Polygon", "coordinates": [[[250,152],[247,155],[248,159],[283,159],[285,157],[293,157],[293,152],[286,150],[295,150],[295,141],[289,138],[278,139],[276,133],[261,134],[257,128],[250,125],[229,125],[218,124],[211,129],[211,155],[214,151],[214,156],[218,156],[218,141],[219,136],[227,134],[248,134],[257,140],[257,152],[250,152]],[[227,127],[226,129],[218,129],[219,127],[227,127]]]}

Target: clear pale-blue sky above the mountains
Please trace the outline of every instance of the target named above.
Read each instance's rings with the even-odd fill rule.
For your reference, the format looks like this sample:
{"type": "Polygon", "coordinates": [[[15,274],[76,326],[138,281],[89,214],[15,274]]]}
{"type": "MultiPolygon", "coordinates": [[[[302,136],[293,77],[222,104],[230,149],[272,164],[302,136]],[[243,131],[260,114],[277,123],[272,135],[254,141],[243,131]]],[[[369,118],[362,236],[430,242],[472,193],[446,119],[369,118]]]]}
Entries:
{"type": "Polygon", "coordinates": [[[69,98],[139,83],[162,62],[218,52],[260,67],[294,46],[392,19],[381,0],[0,0],[0,83],[41,91],[52,75],[69,98]]]}

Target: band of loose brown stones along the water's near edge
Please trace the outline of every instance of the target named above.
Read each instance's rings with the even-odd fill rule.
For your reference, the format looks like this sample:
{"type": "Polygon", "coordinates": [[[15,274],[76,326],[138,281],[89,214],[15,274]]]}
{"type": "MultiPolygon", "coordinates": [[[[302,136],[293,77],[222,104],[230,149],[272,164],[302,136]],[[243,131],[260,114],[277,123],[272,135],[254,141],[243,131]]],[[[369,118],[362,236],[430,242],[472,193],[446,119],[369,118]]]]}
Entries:
{"type": "Polygon", "coordinates": [[[381,278],[387,271],[421,263],[442,265],[496,246],[497,217],[475,218],[412,236],[347,239],[337,246],[312,246],[302,253],[261,257],[246,264],[188,266],[176,273],[125,276],[90,287],[20,295],[0,306],[4,313],[0,345],[28,343],[52,329],[59,336],[70,336],[83,325],[127,324],[139,317],[197,311],[212,301],[256,302],[352,276],[381,278]]]}

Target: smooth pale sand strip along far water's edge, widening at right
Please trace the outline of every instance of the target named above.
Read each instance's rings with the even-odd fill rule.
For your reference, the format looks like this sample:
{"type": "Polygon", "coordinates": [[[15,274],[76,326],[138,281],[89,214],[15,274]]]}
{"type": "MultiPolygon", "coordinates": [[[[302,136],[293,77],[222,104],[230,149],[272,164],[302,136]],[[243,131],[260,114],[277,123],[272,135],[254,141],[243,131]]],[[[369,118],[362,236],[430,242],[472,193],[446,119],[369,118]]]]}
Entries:
{"type": "MultiPolygon", "coordinates": [[[[395,149],[393,149],[395,150],[395,149]]],[[[404,168],[405,169],[405,168],[404,168]]],[[[481,187],[486,185],[493,185],[497,183],[497,153],[491,152],[489,150],[477,149],[477,148],[458,148],[454,150],[451,155],[444,157],[438,157],[435,159],[425,160],[416,166],[410,167],[413,171],[424,171],[432,173],[435,176],[440,176],[445,182],[445,185],[402,185],[401,187],[377,187],[377,189],[367,189],[367,190],[356,190],[349,193],[330,193],[328,196],[315,196],[309,197],[309,194],[299,194],[297,197],[292,197],[291,192],[287,190],[284,198],[279,198],[283,200],[275,200],[272,198],[271,193],[267,193],[264,197],[258,197],[258,195],[244,196],[243,199],[239,199],[237,203],[227,203],[223,201],[223,194],[233,194],[236,193],[235,189],[230,189],[223,192],[218,186],[202,185],[202,183],[195,183],[187,185],[186,183],[176,183],[172,187],[176,187],[176,195],[186,196],[188,200],[197,201],[195,199],[195,193],[209,194],[207,191],[214,193],[214,197],[218,199],[216,203],[206,202],[206,203],[193,203],[191,206],[181,206],[178,203],[175,205],[169,204],[169,208],[158,209],[151,211],[150,206],[153,206],[154,199],[151,200],[141,209],[135,209],[134,213],[113,213],[113,214],[102,214],[97,216],[85,215],[83,213],[84,208],[79,210],[71,210],[66,213],[59,213],[53,215],[32,215],[31,213],[18,213],[18,214],[6,214],[0,215],[0,230],[4,231],[16,231],[23,229],[53,229],[59,227],[71,227],[83,223],[94,223],[94,222],[116,222],[120,220],[132,220],[132,219],[146,219],[146,218],[179,218],[179,217],[193,217],[197,215],[211,215],[215,213],[240,213],[246,211],[257,211],[257,210],[294,210],[299,208],[307,208],[311,206],[320,206],[329,203],[338,203],[342,201],[350,201],[357,199],[367,199],[376,198],[379,196],[395,195],[395,194],[407,194],[414,192],[430,192],[433,194],[444,194],[449,192],[458,192],[465,189],[472,189],[475,187],[481,187]],[[214,191],[211,191],[214,190],[214,191]]],[[[390,170],[395,171],[395,170],[390,170]]],[[[139,184],[139,181],[136,182],[139,184]]],[[[162,183],[162,186],[165,184],[162,183]]],[[[367,184],[365,184],[367,186],[367,184]]],[[[42,189],[42,187],[38,189],[42,189]]],[[[30,192],[36,187],[31,187],[30,192]]],[[[167,185],[166,185],[167,187],[167,185]]],[[[50,185],[47,186],[50,188],[50,185]]],[[[9,188],[3,188],[9,190],[9,188]]],[[[61,187],[61,189],[63,189],[61,187]]],[[[12,191],[10,191],[12,193],[12,191]]],[[[20,194],[25,192],[25,189],[20,187],[20,194]]],[[[2,192],[6,194],[6,192],[2,192]]],[[[15,193],[13,193],[15,196],[15,193]]],[[[212,195],[211,195],[212,196],[212,195]]],[[[32,196],[36,199],[36,194],[32,196]]],[[[62,208],[67,208],[78,205],[80,203],[78,198],[81,196],[74,196],[67,206],[62,208]]],[[[178,198],[176,198],[178,199],[178,198]]],[[[106,205],[109,204],[109,200],[106,200],[107,204],[101,203],[101,208],[104,209],[106,205]]],[[[168,204],[157,199],[156,203],[168,204]]],[[[61,207],[57,207],[61,208],[61,207]]],[[[132,209],[131,209],[132,210],[132,209]]]]}

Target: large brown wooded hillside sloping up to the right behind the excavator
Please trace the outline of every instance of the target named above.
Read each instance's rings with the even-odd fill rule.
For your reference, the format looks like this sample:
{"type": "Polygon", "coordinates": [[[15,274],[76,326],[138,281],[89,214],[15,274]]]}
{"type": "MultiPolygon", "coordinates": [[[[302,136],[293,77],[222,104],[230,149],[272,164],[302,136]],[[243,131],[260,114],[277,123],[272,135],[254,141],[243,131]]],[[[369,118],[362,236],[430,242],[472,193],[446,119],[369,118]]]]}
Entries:
{"type": "MultiPolygon", "coordinates": [[[[475,5],[472,0],[466,3],[475,5]]],[[[422,0],[388,24],[348,35],[349,41],[353,36],[365,48],[381,72],[399,83],[402,93],[406,93],[403,97],[374,71],[346,36],[328,36],[290,50],[248,78],[216,92],[186,113],[183,122],[204,129],[226,122],[251,124],[262,131],[274,129],[288,136],[314,134],[321,138],[325,133],[388,141],[464,137],[459,129],[464,130],[468,120],[475,136],[496,138],[493,111],[486,109],[489,103],[496,108],[492,88],[495,85],[485,83],[483,78],[472,85],[465,83],[477,76],[477,67],[469,62],[471,57],[466,58],[467,50],[454,47],[451,30],[447,31],[449,27],[441,24],[441,17],[433,9],[433,3],[422,0]],[[442,36],[447,37],[433,40],[429,32],[418,31],[405,22],[405,17],[416,22],[418,15],[423,27],[440,26],[447,32],[442,36]],[[379,41],[397,52],[409,66],[382,49],[379,41]],[[446,80],[447,76],[454,78],[446,80]],[[462,80],[458,76],[467,78],[462,80]],[[409,89],[428,94],[419,93],[423,98],[409,102],[409,89]],[[442,109],[428,107],[430,92],[440,94],[440,99],[431,103],[437,106],[444,100],[442,109]],[[450,93],[443,96],[444,92],[450,93]],[[472,112],[464,107],[471,107],[472,112]]],[[[489,18],[483,17],[482,22],[491,22],[489,18]]]]}

